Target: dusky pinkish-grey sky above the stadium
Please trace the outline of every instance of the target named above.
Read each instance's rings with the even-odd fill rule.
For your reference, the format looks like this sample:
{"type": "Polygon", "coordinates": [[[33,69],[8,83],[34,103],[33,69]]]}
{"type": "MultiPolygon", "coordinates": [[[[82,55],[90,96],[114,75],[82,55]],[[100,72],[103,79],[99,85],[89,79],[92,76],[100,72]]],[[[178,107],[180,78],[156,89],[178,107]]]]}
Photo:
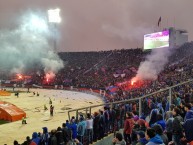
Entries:
{"type": "Polygon", "coordinates": [[[0,29],[16,27],[28,10],[46,13],[57,7],[59,51],[142,47],[144,34],[170,26],[188,30],[193,40],[193,0],[0,0],[0,29]]]}

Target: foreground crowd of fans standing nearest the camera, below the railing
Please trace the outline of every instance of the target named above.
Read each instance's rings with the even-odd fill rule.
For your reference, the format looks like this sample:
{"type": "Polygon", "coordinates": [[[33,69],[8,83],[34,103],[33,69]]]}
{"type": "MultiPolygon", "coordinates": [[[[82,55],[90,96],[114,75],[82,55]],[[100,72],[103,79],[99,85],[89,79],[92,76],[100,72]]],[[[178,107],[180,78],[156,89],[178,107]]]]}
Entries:
{"type": "MultiPolygon", "coordinates": [[[[179,105],[171,104],[165,111],[159,104],[151,109],[149,119],[138,115],[136,108],[127,104],[105,106],[91,114],[74,116],[66,120],[62,127],[48,132],[34,132],[32,138],[26,137],[22,145],[88,145],[114,133],[112,144],[116,145],[190,145],[193,143],[193,102],[179,105]],[[123,128],[123,135],[119,130],[123,128]]],[[[14,145],[18,145],[14,141],[14,145]]]]}

